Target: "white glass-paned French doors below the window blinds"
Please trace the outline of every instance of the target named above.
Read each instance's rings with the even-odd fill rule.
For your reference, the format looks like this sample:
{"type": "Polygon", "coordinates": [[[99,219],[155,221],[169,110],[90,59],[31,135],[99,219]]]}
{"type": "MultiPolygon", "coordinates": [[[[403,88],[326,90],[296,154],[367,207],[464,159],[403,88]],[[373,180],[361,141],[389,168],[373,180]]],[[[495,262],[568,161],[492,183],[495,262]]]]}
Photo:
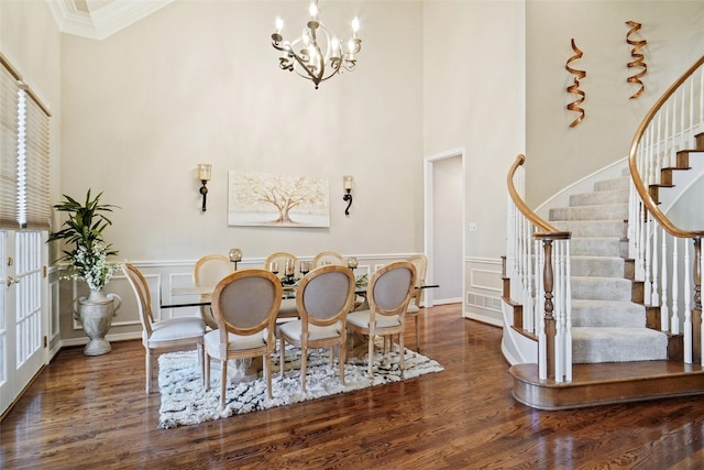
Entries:
{"type": "Polygon", "coordinates": [[[2,231],[0,379],[2,413],[45,362],[46,296],[42,232],[2,231]]]}

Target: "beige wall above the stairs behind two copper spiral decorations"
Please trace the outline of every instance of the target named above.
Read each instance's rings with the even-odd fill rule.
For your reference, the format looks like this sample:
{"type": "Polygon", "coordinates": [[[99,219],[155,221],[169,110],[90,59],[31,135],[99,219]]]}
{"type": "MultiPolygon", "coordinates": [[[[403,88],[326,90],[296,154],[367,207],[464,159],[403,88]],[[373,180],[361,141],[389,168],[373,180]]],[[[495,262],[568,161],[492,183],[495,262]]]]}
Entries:
{"type": "Polygon", "coordinates": [[[537,207],[568,184],[626,157],[646,111],[704,54],[704,2],[529,0],[526,24],[526,197],[537,207]],[[637,87],[626,81],[634,75],[626,66],[629,20],[642,24],[632,37],[648,41],[646,90],[637,99],[629,99],[637,87]],[[586,72],[580,85],[586,117],[575,128],[569,124],[578,114],[565,109],[576,98],[565,91],[572,84],[564,69],[574,54],[571,39],[584,53],[571,66],[586,72]]]}

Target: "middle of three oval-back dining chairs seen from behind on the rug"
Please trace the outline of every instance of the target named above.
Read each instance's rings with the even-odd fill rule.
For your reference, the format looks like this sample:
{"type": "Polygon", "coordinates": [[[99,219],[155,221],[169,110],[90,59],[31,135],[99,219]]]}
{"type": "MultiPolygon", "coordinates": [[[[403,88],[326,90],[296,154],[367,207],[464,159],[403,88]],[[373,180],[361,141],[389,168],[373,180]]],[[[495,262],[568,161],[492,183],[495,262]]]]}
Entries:
{"type": "Polygon", "coordinates": [[[296,293],[300,319],[278,327],[280,375],[285,373],[286,342],[300,348],[300,387],[306,391],[309,348],[330,347],[330,367],[338,347],[340,382],[344,385],[346,316],[354,299],[352,270],[338,264],[316,267],[301,280],[296,293]]]}

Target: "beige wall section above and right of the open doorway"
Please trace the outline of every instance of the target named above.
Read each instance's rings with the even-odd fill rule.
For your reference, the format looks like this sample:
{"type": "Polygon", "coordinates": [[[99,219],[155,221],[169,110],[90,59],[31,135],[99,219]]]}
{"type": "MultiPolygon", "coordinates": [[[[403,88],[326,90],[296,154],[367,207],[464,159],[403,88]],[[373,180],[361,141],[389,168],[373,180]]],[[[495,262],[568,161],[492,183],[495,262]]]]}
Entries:
{"type": "Polygon", "coordinates": [[[465,315],[501,323],[506,173],[525,151],[522,1],[424,3],[424,154],[463,149],[465,315]]]}

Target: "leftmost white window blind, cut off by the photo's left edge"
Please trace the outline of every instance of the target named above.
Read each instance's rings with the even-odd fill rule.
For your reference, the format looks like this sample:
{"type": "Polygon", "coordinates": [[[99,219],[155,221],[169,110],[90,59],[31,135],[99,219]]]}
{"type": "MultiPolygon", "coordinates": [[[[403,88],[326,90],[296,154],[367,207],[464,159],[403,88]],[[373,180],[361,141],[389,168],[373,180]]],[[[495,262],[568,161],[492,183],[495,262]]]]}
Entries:
{"type": "MultiPolygon", "coordinates": [[[[1,57],[0,57],[1,58],[1,57]]],[[[19,76],[0,67],[0,228],[16,229],[19,76]]]]}

